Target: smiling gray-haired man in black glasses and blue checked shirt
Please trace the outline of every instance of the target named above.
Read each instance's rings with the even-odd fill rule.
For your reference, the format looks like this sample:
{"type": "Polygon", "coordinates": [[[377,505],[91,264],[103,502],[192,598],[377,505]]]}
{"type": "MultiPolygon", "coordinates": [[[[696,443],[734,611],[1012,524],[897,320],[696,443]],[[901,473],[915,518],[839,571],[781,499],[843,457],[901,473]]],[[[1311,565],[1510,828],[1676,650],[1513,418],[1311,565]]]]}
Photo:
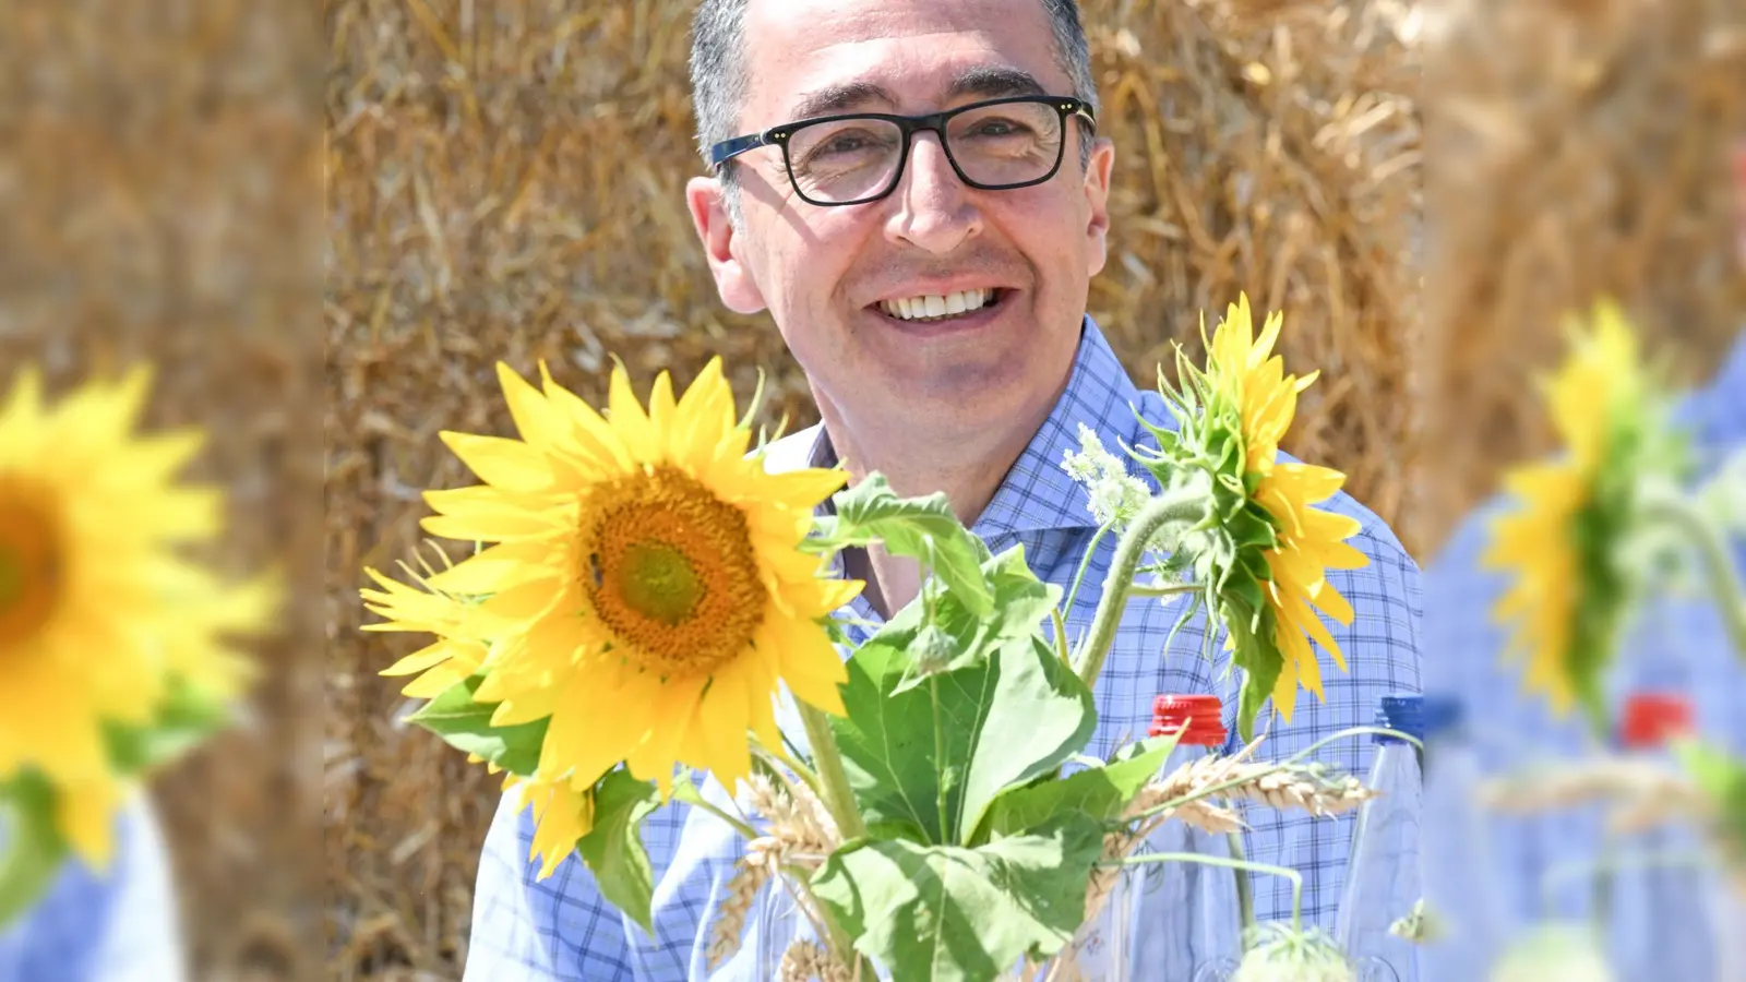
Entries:
{"type": "MultiPolygon", "coordinates": [[[[876,470],[899,494],[945,491],[990,549],[1023,543],[1039,577],[1067,584],[1095,531],[1084,489],[1062,468],[1077,426],[1116,446],[1149,442],[1130,405],[1168,421],[1086,316],[1105,260],[1114,147],[1096,136],[1077,5],[705,0],[695,28],[700,138],[721,166],[686,189],[691,217],[723,302],[770,311],[822,416],[775,444],[768,465],[842,460],[854,479],[876,470]],[[990,100],[1007,101],[980,105],[990,100]],[[943,133],[917,128],[950,110],[962,112],[943,133]],[[786,126],[843,114],[910,122],[786,126]]],[[[1351,673],[1327,669],[1327,702],[1303,699],[1290,725],[1273,723],[1266,753],[1276,757],[1367,723],[1381,695],[1419,685],[1416,566],[1357,501],[1330,508],[1362,522],[1353,545],[1371,557],[1330,573],[1357,608],[1350,629],[1334,627],[1351,673]]],[[[1105,540],[1090,582],[1110,556],[1105,540]]],[[[920,589],[913,564],[876,549],[845,556],[845,571],[868,582],[854,613],[873,622],[920,589]]],[[[1079,594],[1070,631],[1090,626],[1096,592],[1079,594]]],[[[1213,692],[1234,716],[1227,659],[1200,655],[1205,622],[1165,652],[1175,619],[1152,601],[1130,608],[1096,685],[1093,753],[1144,736],[1161,692],[1213,692]]],[[[1322,757],[1362,771],[1369,743],[1322,757]]],[[[1350,821],[1250,818],[1254,858],[1297,867],[1308,917],[1330,924],[1350,821]]],[[[709,924],[739,854],[719,821],[670,806],[646,823],[655,937],[606,905],[578,860],[536,882],[529,837],[529,818],[506,800],[480,863],[470,982],[709,977],[709,924]]],[[[1255,882],[1261,916],[1289,916],[1290,886],[1255,882]]],[[[740,959],[716,977],[753,972],[740,959]]]]}

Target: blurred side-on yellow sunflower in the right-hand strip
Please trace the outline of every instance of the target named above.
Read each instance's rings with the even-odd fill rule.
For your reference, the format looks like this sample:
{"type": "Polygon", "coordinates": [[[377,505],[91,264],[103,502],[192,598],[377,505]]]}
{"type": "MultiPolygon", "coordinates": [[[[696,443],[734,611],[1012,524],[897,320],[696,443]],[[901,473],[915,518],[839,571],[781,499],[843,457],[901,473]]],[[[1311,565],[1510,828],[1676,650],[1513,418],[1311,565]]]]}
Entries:
{"type": "Polygon", "coordinates": [[[1580,699],[1605,725],[1599,671],[1629,592],[1608,549],[1631,522],[1636,477],[1653,467],[1646,376],[1617,306],[1599,302],[1589,334],[1571,325],[1570,358],[1542,390],[1566,453],[1503,477],[1519,507],[1491,521],[1482,566],[1514,582],[1491,613],[1514,627],[1505,659],[1526,660],[1528,692],[1559,716],[1580,699]]]}

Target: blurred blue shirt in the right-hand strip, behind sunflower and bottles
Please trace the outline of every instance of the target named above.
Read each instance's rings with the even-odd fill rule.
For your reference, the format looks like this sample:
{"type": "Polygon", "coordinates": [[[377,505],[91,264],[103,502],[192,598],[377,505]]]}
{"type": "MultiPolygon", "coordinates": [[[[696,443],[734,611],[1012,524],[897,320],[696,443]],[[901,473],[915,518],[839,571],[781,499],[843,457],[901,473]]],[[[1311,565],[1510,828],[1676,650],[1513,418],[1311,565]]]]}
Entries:
{"type": "MultiPolygon", "coordinates": [[[[1746,341],[1708,388],[1681,400],[1676,421],[1694,439],[1699,477],[1746,444],[1746,341]]],[[[1505,631],[1491,608],[1510,578],[1481,568],[1489,543],[1489,522],[1512,508],[1495,498],[1454,531],[1426,568],[1430,605],[1425,612],[1426,688],[1461,699],[1467,739],[1482,772],[1521,774],[1557,765],[1612,744],[1596,744],[1587,720],[1573,711],[1557,720],[1540,695],[1521,695],[1521,667],[1503,664],[1505,631]]],[[[1746,543],[1736,540],[1736,568],[1746,568],[1746,543]]],[[[1746,666],[1729,643],[1716,610],[1706,598],[1666,596],[1646,605],[1627,626],[1608,694],[1613,716],[1626,688],[1685,694],[1706,737],[1736,755],[1746,755],[1746,666]]],[[[1589,879],[1557,886],[1556,867],[1596,856],[1605,813],[1599,807],[1564,809],[1545,816],[1493,816],[1486,825],[1495,853],[1489,875],[1491,903],[1507,924],[1538,917],[1582,917],[1591,909],[1589,879]]]]}

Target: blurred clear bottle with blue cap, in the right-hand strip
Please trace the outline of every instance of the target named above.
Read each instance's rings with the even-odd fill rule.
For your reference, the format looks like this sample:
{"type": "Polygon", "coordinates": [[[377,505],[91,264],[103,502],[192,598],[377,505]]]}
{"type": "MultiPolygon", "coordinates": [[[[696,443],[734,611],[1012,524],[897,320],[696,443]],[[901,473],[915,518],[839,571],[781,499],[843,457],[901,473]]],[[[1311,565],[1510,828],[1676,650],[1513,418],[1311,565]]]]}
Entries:
{"type": "Polygon", "coordinates": [[[1489,816],[1479,804],[1479,760],[1467,739],[1467,706],[1426,695],[1425,732],[1425,907],[1437,935],[1419,949],[1423,982],[1486,979],[1507,928],[1500,865],[1489,816]]]}

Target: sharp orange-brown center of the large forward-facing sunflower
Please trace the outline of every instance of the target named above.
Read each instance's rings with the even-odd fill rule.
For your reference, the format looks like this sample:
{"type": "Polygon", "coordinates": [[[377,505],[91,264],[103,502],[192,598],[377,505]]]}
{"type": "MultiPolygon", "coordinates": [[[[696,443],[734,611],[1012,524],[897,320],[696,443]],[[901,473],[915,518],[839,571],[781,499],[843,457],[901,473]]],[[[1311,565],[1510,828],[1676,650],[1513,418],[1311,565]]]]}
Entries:
{"type": "Polygon", "coordinates": [[[746,514],[674,468],[599,488],[583,508],[581,577],[615,652],[643,671],[707,674],[763,624],[746,514]]]}

